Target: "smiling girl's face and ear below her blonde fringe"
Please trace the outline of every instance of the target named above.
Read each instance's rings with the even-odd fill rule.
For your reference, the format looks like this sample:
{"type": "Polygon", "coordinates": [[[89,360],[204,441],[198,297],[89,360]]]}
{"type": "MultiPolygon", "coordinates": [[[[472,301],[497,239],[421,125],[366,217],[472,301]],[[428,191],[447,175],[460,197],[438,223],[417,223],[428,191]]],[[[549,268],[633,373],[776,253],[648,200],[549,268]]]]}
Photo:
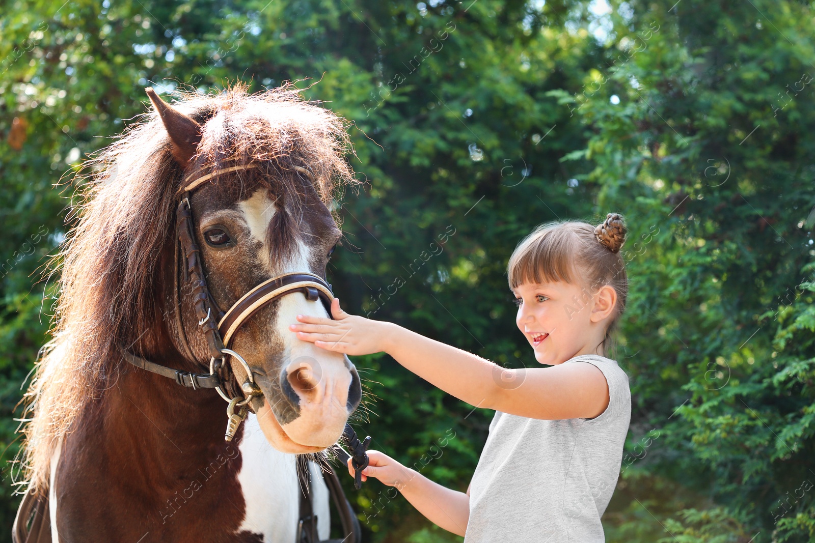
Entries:
{"type": "Polygon", "coordinates": [[[603,321],[616,301],[616,292],[607,285],[593,296],[588,288],[566,282],[526,282],[513,294],[518,330],[535,351],[535,360],[550,366],[594,353],[605,335],[603,321]]]}

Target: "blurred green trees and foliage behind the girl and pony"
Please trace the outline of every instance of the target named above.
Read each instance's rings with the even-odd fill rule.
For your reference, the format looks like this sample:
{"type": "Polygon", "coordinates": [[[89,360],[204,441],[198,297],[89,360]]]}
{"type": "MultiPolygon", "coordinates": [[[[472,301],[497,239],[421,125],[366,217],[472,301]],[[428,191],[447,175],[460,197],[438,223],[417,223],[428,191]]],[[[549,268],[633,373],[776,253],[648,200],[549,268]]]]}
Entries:
{"type": "MultiPolygon", "coordinates": [[[[623,213],[632,420],[607,541],[815,541],[812,2],[60,3],[0,2],[0,540],[78,164],[139,119],[145,86],[302,80],[355,124],[363,184],[329,269],[346,309],[533,366],[510,252],[540,222],[623,213]]],[[[357,364],[360,433],[464,490],[491,412],[357,364]]],[[[343,483],[366,541],[460,541],[343,483]]]]}

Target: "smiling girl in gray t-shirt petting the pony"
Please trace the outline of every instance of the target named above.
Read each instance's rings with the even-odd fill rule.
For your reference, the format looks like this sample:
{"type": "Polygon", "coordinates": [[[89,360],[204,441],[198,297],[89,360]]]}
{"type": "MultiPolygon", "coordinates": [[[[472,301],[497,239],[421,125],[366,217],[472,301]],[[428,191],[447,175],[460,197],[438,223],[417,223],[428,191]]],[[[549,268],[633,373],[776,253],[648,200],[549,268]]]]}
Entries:
{"type": "Polygon", "coordinates": [[[631,418],[628,375],[604,355],[628,295],[625,234],[618,213],[598,226],[554,221],[510,257],[518,329],[550,367],[504,369],[393,323],[351,316],[338,300],[337,320],[298,316],[291,330],[300,339],[349,355],[384,351],[460,400],[496,410],[466,493],[377,451],[368,451],[363,480],[395,486],[465,543],[605,541],[600,518],[631,418]]]}

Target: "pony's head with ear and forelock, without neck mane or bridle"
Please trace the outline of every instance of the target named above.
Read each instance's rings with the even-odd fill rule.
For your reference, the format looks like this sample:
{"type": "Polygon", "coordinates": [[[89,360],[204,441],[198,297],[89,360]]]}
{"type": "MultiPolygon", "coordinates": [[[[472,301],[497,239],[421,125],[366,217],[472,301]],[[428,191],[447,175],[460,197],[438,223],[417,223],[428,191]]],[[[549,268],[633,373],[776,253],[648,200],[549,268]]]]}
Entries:
{"type": "MultiPolygon", "coordinates": [[[[171,107],[152,89],[148,95],[181,170],[179,182],[183,186],[207,177],[188,193],[188,207],[214,307],[227,310],[253,287],[283,274],[325,278],[341,236],[328,209],[332,177],[337,170],[346,174],[331,126],[337,117],[303,102],[239,99],[234,90],[214,108],[187,112],[171,107]]],[[[193,307],[196,299],[189,296],[195,285],[184,274],[174,279],[180,303],[171,304],[168,313],[180,313],[170,336],[179,353],[209,361],[193,307]]],[[[262,392],[264,401],[253,404],[262,431],[287,453],[315,452],[336,443],[361,396],[359,375],[348,357],[289,331],[297,314],[328,316],[321,301],[310,297],[293,292],[263,305],[229,342],[262,392]]],[[[241,379],[246,375],[234,361],[233,370],[241,379]]]]}

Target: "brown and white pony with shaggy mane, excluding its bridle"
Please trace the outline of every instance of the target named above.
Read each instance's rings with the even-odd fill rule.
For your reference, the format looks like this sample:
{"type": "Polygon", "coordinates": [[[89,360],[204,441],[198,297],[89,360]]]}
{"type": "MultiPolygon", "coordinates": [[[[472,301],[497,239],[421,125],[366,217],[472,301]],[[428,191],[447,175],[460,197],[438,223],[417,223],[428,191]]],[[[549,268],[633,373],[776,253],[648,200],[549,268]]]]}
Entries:
{"type": "MultiPolygon", "coordinates": [[[[231,169],[189,199],[217,306],[287,272],[325,278],[341,235],[333,190],[352,181],[346,126],[287,89],[247,94],[239,85],[187,94],[174,107],[151,99],[148,119],[90,163],[84,204],[74,209],[53,339],[27,394],[29,493],[49,498],[55,543],[292,543],[295,455],[336,443],[360,400],[347,357],[288,330],[298,313],[326,316],[324,305],[293,293],[236,332],[230,348],[248,362],[263,401],[231,442],[226,402],[213,389],[130,366],[119,346],[209,373],[193,286],[174,261],[184,180],[231,169]]],[[[311,469],[324,539],[328,493],[311,469]]]]}

